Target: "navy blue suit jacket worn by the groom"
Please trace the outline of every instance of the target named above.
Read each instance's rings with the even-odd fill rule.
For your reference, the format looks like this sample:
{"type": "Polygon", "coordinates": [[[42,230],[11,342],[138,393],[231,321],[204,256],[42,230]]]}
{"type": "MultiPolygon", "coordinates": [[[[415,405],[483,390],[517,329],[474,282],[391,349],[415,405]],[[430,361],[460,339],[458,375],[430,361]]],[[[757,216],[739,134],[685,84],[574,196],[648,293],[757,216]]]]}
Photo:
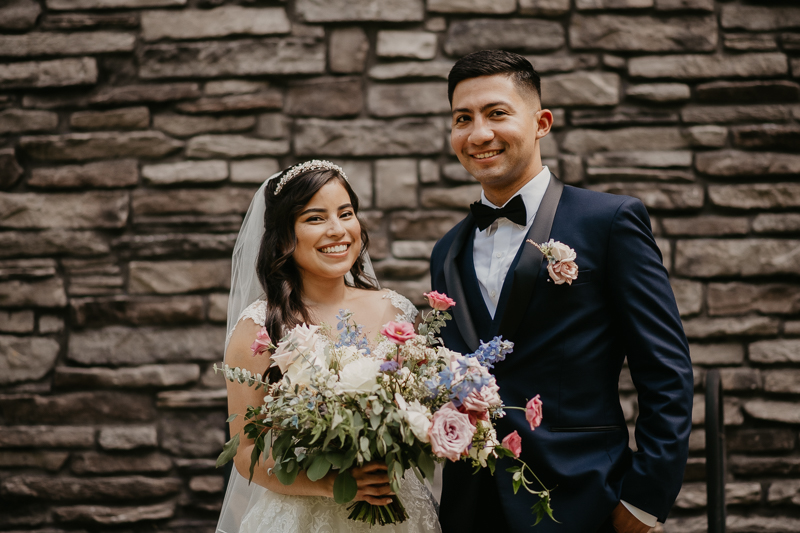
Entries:
{"type": "MultiPolygon", "coordinates": [[[[522,459],[555,489],[552,507],[561,524],[545,518],[534,531],[595,532],[620,499],[663,522],[683,479],[693,378],[647,211],[635,198],[569,186],[557,206],[549,238],[575,249],[577,280],[554,284],[542,254],[523,244],[494,319],[472,263],[472,216],[436,244],[433,289],[457,300],[442,338],[462,353],[498,334],[513,341],[514,352],[494,369],[504,403],[524,406],[541,395],[544,420],[535,431],[522,411],[508,411],[497,424],[501,439],[519,433],[522,459]],[[626,356],[639,398],[635,453],[618,393],[626,356]]],[[[547,222],[545,216],[540,209],[542,220],[534,221],[529,235],[547,222]]],[[[492,477],[486,469],[473,475],[465,462],[447,463],[444,533],[531,530],[537,498],[523,490],[513,494],[505,472],[510,465],[499,461],[492,477]]]]}

